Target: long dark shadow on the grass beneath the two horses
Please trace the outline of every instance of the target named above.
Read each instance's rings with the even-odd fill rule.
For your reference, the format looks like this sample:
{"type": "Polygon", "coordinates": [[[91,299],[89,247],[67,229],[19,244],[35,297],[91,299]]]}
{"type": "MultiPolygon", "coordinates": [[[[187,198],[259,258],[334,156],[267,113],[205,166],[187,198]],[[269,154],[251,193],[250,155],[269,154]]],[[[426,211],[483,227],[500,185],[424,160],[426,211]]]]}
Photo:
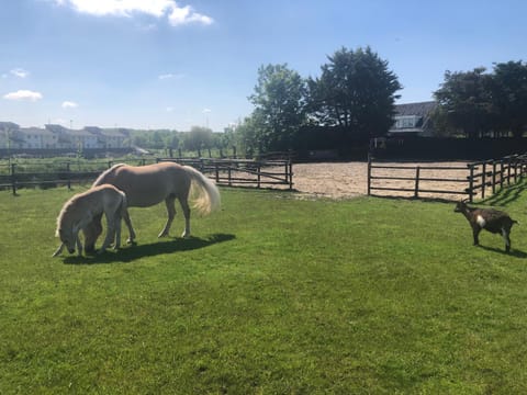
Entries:
{"type": "Polygon", "coordinates": [[[103,253],[88,256],[70,256],[64,259],[66,264],[96,264],[96,263],[127,263],[143,257],[172,253],[178,251],[190,251],[205,248],[218,242],[234,240],[234,235],[214,234],[206,238],[171,238],[166,241],[158,241],[145,245],[131,245],[117,251],[108,250],[103,253]]]}

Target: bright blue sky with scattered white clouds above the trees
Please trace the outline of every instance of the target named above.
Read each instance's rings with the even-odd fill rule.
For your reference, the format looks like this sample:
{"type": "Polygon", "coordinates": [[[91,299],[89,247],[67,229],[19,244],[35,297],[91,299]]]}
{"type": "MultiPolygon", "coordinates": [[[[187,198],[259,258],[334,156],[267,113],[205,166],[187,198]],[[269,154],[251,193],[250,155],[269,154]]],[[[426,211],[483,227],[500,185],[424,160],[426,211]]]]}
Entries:
{"type": "Polygon", "coordinates": [[[527,60],[527,1],[0,0],[0,121],[214,131],[253,111],[258,67],[316,77],[370,46],[431,99],[446,70],[527,60]]]}

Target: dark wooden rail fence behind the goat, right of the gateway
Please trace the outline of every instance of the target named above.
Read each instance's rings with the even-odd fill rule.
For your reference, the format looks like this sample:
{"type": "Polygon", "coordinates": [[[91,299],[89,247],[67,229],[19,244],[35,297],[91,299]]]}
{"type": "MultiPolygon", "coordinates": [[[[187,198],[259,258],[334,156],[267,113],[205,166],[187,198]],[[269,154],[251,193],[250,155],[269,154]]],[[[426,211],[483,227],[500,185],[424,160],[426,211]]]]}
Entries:
{"type": "Polygon", "coordinates": [[[459,166],[385,163],[368,159],[368,195],[391,191],[412,198],[462,195],[470,202],[484,199],[505,185],[516,183],[527,173],[527,155],[512,155],[497,160],[459,166]],[[419,195],[421,194],[421,195],[419,195]]]}

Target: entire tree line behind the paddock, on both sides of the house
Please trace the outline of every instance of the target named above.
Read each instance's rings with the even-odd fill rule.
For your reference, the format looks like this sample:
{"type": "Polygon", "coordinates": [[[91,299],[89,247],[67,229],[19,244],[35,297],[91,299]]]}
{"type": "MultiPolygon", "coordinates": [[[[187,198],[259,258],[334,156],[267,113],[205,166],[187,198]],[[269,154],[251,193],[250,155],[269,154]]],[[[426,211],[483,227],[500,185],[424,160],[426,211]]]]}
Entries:
{"type": "MultiPolygon", "coordinates": [[[[431,114],[438,136],[522,136],[527,126],[527,64],[495,64],[471,71],[446,71],[433,92],[431,114]]],[[[132,135],[146,148],[231,149],[244,155],[332,144],[368,142],[393,124],[402,89],[389,63],[370,47],[341,47],[321,66],[318,77],[302,77],[288,64],[262,65],[248,100],[254,111],[224,133],[193,126],[190,133],[155,131],[132,135]],[[314,133],[313,131],[317,131],[314,133]],[[332,132],[327,132],[332,131],[332,132]],[[313,137],[315,136],[315,137],[313,137]],[[336,143],[333,143],[336,142],[336,143]]],[[[335,147],[337,148],[337,147],[335,147]]]]}

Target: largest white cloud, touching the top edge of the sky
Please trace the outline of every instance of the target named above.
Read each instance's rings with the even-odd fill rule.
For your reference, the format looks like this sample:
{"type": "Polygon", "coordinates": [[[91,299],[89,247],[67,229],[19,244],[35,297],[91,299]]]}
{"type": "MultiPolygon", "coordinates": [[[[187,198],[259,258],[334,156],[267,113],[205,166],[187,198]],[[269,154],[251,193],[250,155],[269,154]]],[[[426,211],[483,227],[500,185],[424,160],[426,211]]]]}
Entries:
{"type": "Polygon", "coordinates": [[[131,18],[134,13],[155,18],[168,16],[172,26],[200,23],[210,25],[214,20],[195,12],[192,7],[179,7],[175,0],[55,0],[57,5],[69,5],[77,12],[96,16],[131,18]]]}

